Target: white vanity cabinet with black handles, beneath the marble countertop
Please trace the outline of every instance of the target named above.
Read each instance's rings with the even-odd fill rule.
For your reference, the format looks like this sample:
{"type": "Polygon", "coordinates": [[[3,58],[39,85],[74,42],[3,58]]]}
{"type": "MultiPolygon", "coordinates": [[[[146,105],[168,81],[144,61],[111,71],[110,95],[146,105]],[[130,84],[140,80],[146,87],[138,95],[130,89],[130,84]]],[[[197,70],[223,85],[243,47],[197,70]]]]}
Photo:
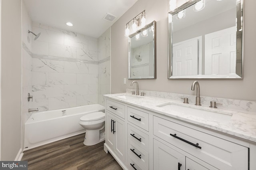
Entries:
{"type": "Polygon", "coordinates": [[[105,124],[104,150],[123,169],[249,170],[254,164],[249,157],[256,147],[248,142],[114,99],[106,100],[105,124]]]}

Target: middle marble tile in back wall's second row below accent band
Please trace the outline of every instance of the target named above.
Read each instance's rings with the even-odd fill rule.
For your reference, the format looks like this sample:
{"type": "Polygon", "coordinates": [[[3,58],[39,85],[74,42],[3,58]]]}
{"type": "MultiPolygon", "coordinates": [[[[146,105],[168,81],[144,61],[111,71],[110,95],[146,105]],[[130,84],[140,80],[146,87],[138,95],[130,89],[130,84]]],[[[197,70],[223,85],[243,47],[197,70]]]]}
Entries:
{"type": "Polygon", "coordinates": [[[72,85],[76,84],[75,73],[49,73],[49,85],[72,85]]]}

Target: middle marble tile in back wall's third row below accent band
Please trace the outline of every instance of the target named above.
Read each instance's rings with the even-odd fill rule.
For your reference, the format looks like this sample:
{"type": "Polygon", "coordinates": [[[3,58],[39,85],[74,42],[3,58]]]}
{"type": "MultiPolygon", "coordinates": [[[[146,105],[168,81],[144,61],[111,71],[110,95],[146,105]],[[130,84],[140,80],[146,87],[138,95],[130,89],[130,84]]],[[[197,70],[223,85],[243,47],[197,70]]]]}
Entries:
{"type": "Polygon", "coordinates": [[[64,85],[65,96],[87,95],[88,85],[64,85]]]}

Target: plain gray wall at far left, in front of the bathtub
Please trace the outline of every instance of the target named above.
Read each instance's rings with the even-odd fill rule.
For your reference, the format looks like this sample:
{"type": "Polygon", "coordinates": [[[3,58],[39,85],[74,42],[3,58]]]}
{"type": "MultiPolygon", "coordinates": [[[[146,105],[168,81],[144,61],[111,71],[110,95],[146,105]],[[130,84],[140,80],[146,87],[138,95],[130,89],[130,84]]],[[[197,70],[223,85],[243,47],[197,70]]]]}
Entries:
{"type": "Polygon", "coordinates": [[[1,160],[14,160],[21,148],[21,0],[2,0],[1,160]]]}

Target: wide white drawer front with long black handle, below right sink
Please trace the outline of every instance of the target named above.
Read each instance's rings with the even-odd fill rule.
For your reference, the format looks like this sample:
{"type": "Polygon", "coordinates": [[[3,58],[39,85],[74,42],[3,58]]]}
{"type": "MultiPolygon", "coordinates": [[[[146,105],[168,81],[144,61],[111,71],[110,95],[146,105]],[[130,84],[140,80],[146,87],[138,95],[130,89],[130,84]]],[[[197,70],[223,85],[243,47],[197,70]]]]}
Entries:
{"type": "Polygon", "coordinates": [[[218,169],[248,169],[248,148],[156,116],[153,119],[154,135],[166,142],[218,169]]]}

